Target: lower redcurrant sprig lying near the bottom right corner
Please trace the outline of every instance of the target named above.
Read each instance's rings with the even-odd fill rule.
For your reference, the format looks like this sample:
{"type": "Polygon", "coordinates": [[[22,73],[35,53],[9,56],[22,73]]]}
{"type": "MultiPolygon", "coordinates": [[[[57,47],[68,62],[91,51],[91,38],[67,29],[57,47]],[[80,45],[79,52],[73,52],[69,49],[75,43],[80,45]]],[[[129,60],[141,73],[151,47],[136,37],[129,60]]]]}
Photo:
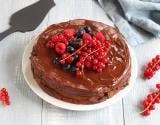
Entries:
{"type": "Polygon", "coordinates": [[[150,115],[151,110],[155,110],[155,104],[160,103],[160,84],[156,84],[158,91],[147,95],[147,99],[143,101],[144,110],[141,112],[144,116],[150,115]]]}

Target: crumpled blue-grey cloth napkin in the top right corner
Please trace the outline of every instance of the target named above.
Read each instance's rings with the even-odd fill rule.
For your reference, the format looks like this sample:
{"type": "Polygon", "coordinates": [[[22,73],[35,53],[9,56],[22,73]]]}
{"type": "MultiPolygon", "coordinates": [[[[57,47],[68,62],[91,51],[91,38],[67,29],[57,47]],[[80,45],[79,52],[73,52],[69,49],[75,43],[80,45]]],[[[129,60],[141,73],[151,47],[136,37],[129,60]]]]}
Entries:
{"type": "Polygon", "coordinates": [[[130,45],[160,37],[160,0],[98,0],[130,45]]]}

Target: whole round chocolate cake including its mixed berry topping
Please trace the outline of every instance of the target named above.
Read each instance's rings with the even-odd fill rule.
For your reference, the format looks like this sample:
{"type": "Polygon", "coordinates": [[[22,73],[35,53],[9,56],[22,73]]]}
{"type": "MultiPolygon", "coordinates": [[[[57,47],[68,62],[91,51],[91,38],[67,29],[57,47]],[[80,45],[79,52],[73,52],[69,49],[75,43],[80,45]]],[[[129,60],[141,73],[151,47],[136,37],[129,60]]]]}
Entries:
{"type": "Polygon", "coordinates": [[[33,76],[39,86],[50,96],[70,103],[94,104],[105,101],[124,89],[131,76],[131,58],[123,36],[116,28],[91,20],[77,19],[49,26],[38,37],[30,59],[33,76]],[[72,37],[64,38],[66,29],[72,37]],[[105,43],[101,44],[100,39],[105,43]],[[53,43],[56,40],[59,41],[53,43]],[[71,45],[75,40],[79,40],[80,45],[76,49],[71,45]],[[95,40],[98,40],[96,42],[103,52],[96,53],[100,51],[96,48],[98,43],[96,49],[92,49],[95,40]],[[68,53],[65,57],[63,50],[68,53]],[[85,58],[80,59],[79,51],[85,58]],[[92,62],[87,63],[87,59],[92,62]],[[95,60],[106,62],[96,64],[95,60]],[[82,67],[77,68],[79,61],[82,67]]]}

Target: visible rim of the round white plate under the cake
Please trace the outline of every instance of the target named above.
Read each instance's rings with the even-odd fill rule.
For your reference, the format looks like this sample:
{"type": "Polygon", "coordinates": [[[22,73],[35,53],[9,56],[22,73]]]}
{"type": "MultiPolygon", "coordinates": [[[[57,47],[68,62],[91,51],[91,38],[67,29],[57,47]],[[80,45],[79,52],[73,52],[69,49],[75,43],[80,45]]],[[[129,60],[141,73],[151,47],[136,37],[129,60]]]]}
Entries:
{"type": "Polygon", "coordinates": [[[39,85],[36,83],[35,79],[33,78],[32,71],[31,71],[31,61],[29,59],[31,55],[32,48],[34,44],[36,43],[36,39],[30,41],[30,43],[26,46],[22,58],[22,72],[24,75],[24,78],[27,82],[27,84],[30,86],[30,88],[43,100],[46,102],[68,110],[75,110],[75,111],[89,111],[89,110],[96,110],[100,109],[106,106],[111,105],[112,103],[118,101],[119,99],[122,99],[124,95],[126,95],[131,88],[133,88],[133,84],[135,82],[136,76],[137,76],[137,63],[136,59],[133,53],[133,50],[131,47],[130,49],[130,54],[131,54],[131,60],[132,60],[132,68],[131,68],[131,78],[129,81],[129,85],[125,87],[123,90],[119,91],[116,95],[114,95],[112,98],[107,99],[104,102],[100,102],[97,104],[89,104],[89,105],[80,105],[80,104],[72,104],[68,102],[64,102],[62,100],[56,99],[52,96],[49,96],[47,93],[45,93],[39,85]]]}

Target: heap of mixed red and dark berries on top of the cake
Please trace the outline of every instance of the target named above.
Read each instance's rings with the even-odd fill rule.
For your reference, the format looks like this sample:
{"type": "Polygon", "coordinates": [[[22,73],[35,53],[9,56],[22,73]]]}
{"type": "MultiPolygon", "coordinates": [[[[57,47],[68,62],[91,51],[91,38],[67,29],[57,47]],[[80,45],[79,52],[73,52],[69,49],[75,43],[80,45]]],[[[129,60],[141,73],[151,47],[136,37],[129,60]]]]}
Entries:
{"type": "Polygon", "coordinates": [[[55,64],[80,76],[83,69],[102,72],[108,62],[110,44],[101,32],[93,32],[85,26],[78,31],[66,29],[52,36],[46,46],[56,52],[55,64]]]}

